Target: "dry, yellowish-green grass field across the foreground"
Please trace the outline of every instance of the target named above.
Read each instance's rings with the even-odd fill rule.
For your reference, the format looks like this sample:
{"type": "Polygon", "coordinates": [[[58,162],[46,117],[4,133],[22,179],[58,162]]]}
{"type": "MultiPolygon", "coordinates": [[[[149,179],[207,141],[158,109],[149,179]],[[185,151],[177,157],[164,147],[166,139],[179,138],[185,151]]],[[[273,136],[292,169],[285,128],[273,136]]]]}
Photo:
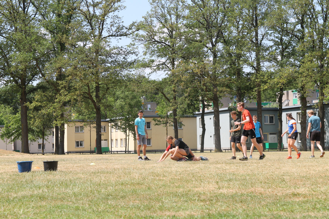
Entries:
{"type": "Polygon", "coordinates": [[[286,160],[287,152],[265,152],[263,161],[196,153],[209,161],[157,163],[160,154],[0,150],[0,218],[329,218],[327,153],[286,160]],[[58,160],[58,171],[44,172],[46,160],[58,160]],[[16,161],[41,169],[18,173],[16,161]]]}

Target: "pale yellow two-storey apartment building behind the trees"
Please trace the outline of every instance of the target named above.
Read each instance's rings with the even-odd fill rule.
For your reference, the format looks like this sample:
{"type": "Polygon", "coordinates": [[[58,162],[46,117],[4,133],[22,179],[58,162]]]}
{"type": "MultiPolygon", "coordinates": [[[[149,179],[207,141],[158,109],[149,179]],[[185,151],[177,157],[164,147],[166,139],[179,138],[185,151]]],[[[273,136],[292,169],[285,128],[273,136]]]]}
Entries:
{"type": "MultiPolygon", "coordinates": [[[[153,118],[159,118],[157,115],[144,115],[146,129],[148,133],[146,150],[163,150],[167,147],[166,130],[168,135],[174,136],[172,126],[163,127],[154,125],[153,118]]],[[[191,149],[197,148],[197,130],[196,117],[183,117],[179,120],[178,137],[184,141],[191,149]]],[[[137,140],[134,140],[136,133],[129,133],[129,138],[124,132],[112,127],[107,120],[102,120],[102,151],[125,151],[127,141],[127,150],[135,151],[137,149],[137,140]],[[128,142],[129,141],[129,142],[128,142]]],[[[65,152],[83,152],[95,151],[96,130],[94,125],[84,125],[83,121],[72,120],[65,124],[64,151],[65,152]],[[91,136],[91,137],[90,137],[91,136]],[[91,145],[91,146],[90,146],[91,145]]]]}

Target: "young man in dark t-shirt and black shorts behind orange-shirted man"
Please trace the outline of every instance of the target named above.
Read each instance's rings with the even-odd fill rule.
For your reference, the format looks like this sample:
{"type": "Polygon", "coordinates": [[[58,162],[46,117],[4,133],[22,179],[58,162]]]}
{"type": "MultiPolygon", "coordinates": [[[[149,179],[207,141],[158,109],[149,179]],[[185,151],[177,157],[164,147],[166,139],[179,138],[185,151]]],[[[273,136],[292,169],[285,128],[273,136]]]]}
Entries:
{"type": "Polygon", "coordinates": [[[233,156],[230,158],[230,160],[236,160],[237,157],[235,156],[235,144],[237,144],[237,147],[240,149],[240,151],[242,151],[242,147],[241,147],[241,125],[235,125],[234,122],[240,122],[241,120],[237,117],[237,112],[236,111],[232,111],[231,112],[231,117],[232,117],[232,121],[231,121],[231,130],[230,130],[230,142],[231,142],[231,146],[232,146],[232,153],[233,156]]]}

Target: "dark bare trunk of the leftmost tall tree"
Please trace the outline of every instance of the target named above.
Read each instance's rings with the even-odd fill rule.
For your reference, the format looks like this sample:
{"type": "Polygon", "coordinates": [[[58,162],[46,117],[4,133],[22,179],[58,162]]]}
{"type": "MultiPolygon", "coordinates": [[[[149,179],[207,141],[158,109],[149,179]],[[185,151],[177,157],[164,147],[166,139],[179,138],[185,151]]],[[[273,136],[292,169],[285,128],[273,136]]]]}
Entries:
{"type": "MultiPolygon", "coordinates": [[[[23,79],[21,79],[23,80],[23,79]]],[[[21,124],[22,124],[22,153],[29,154],[29,133],[28,133],[28,124],[27,124],[27,106],[26,106],[26,86],[21,87],[20,95],[20,106],[21,106],[21,124]]]]}

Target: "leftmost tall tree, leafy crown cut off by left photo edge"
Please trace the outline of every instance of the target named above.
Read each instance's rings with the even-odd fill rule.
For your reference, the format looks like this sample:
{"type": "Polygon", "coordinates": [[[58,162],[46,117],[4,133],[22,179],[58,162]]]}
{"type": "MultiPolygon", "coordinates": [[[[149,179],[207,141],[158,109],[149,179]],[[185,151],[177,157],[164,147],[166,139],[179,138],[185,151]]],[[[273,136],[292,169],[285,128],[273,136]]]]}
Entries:
{"type": "Polygon", "coordinates": [[[2,1],[0,5],[0,76],[20,91],[22,152],[29,152],[26,87],[38,78],[36,62],[48,51],[38,13],[30,1],[2,1]]]}

